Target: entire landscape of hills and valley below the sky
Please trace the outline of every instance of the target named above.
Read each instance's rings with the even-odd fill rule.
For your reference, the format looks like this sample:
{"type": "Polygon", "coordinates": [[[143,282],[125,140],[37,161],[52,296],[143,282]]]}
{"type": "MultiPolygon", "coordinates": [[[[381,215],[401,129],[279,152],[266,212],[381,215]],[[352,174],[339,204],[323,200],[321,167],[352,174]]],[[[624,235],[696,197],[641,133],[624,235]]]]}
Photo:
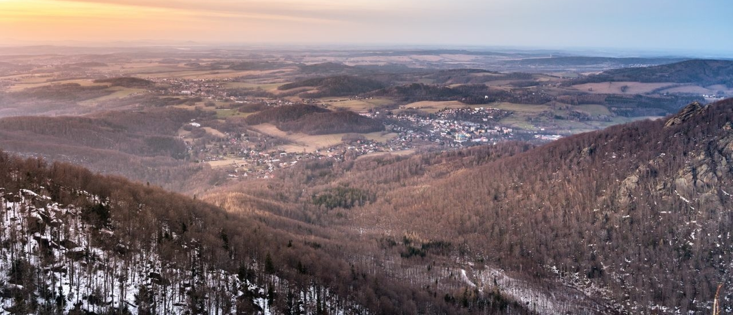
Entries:
{"type": "Polygon", "coordinates": [[[732,61],[79,50],[0,55],[0,314],[708,314],[733,286],[732,61]]]}

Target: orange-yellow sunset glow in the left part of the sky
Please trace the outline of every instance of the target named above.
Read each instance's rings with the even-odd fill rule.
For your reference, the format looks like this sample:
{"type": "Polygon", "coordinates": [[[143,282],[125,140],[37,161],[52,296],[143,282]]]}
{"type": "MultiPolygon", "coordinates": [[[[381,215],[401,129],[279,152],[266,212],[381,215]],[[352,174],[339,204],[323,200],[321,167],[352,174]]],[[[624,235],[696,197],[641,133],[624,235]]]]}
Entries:
{"type": "MultiPolygon", "coordinates": [[[[7,30],[0,33],[0,40],[222,40],[235,34],[257,35],[261,29],[285,31],[295,23],[333,23],[275,12],[198,7],[147,6],[136,1],[0,0],[0,29],[7,30]]],[[[266,35],[252,38],[261,40],[266,35]]]]}

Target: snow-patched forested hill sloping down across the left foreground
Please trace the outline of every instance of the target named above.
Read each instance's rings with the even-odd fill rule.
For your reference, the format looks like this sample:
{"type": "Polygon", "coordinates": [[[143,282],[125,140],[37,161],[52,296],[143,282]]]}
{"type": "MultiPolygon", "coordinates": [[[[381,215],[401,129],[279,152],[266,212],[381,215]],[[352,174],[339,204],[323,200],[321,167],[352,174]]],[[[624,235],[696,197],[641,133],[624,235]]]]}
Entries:
{"type": "MultiPolygon", "coordinates": [[[[221,208],[0,152],[0,311],[10,314],[461,314],[357,270],[323,227],[221,208]],[[272,226],[279,226],[273,228],[272,226]]],[[[267,211],[266,211],[267,210],[267,211]]],[[[501,294],[488,314],[526,314],[501,294]]],[[[483,314],[483,313],[482,313],[483,314]]]]}

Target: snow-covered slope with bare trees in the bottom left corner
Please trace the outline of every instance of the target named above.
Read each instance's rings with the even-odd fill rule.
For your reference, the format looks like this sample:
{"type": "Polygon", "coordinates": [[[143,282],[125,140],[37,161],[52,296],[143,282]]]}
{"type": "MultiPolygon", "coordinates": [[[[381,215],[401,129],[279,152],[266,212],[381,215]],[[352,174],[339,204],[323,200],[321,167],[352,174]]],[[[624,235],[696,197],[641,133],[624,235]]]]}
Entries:
{"type": "MultiPolygon", "coordinates": [[[[110,202],[86,195],[100,209],[110,202]]],[[[258,286],[244,267],[218,270],[199,259],[196,240],[180,242],[191,264],[166,262],[158,240],[147,240],[148,250],[130,248],[85,212],[31,190],[0,188],[0,314],[366,313],[317,286],[297,289],[274,275],[257,277],[265,284],[258,286]],[[280,293],[287,305],[277,307],[280,293]]]]}

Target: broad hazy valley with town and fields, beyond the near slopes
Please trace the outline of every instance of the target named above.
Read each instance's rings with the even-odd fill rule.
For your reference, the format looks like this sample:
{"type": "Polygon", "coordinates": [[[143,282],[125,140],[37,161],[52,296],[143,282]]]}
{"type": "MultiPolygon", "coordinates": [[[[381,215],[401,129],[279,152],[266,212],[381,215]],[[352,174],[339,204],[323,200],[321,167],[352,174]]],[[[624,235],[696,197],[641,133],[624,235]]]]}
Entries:
{"type": "MultiPolygon", "coordinates": [[[[6,149],[23,155],[82,163],[96,171],[153,182],[177,191],[200,192],[208,186],[172,185],[177,181],[172,181],[169,175],[158,177],[131,171],[139,166],[130,163],[135,161],[136,165],[155,168],[180,164],[176,167],[197,169],[196,173],[204,174],[201,177],[207,182],[219,185],[232,179],[271,177],[277,168],[292,166],[303,158],[339,161],[361,155],[461,149],[501,141],[541,144],[638,119],[658,119],[693,100],[733,94],[720,82],[696,83],[688,79],[690,82],[686,84],[677,83],[684,82],[685,77],[670,83],[647,83],[661,80],[647,77],[637,83],[583,83],[598,81],[599,75],[581,72],[570,75],[574,67],[605,70],[679,59],[563,56],[547,59],[539,58],[542,53],[461,52],[462,56],[476,56],[470,60],[485,62],[473,65],[503,70],[498,72],[460,68],[471,64],[443,59],[452,51],[320,53],[324,56],[320,62],[314,59],[318,52],[313,51],[207,51],[202,48],[8,56],[3,58],[0,67],[0,116],[103,116],[113,124],[117,122],[110,117],[117,112],[163,114],[169,111],[180,116],[181,111],[187,111],[189,114],[185,116],[189,117],[188,121],[176,122],[177,131],[148,135],[168,137],[166,141],[177,141],[177,146],[185,147],[185,151],[145,154],[143,161],[139,154],[119,156],[119,149],[106,147],[112,151],[100,152],[99,147],[88,148],[96,149],[100,157],[116,155],[106,160],[117,160],[121,166],[102,165],[99,158],[95,162],[70,153],[67,141],[62,141],[66,148],[51,150],[53,153],[48,149],[32,149],[33,143],[45,141],[39,138],[7,136],[0,141],[6,141],[6,149]],[[348,60],[354,61],[369,53],[373,54],[369,58],[383,62],[350,63],[343,59],[347,57],[335,57],[353,55],[356,59],[348,60]],[[427,64],[415,64],[410,58],[386,58],[414,53],[443,57],[430,59],[432,62],[427,64]],[[557,63],[564,66],[562,75],[538,66],[557,63]],[[548,73],[537,73],[540,69],[548,73]],[[288,122],[287,130],[281,123],[273,127],[268,122],[252,121],[253,116],[268,108],[298,104],[314,105],[325,111],[353,111],[364,119],[352,127],[325,127],[323,122],[346,117],[326,119],[323,116],[323,122],[312,119],[288,122]],[[372,121],[376,125],[371,129],[356,127],[372,121]],[[320,126],[322,130],[310,126],[320,126]]],[[[685,62],[679,64],[680,69],[685,67],[685,62]]],[[[58,140],[52,141],[54,145],[60,145],[55,142],[58,140]]],[[[88,146],[73,150],[81,153],[84,147],[88,146]]]]}

